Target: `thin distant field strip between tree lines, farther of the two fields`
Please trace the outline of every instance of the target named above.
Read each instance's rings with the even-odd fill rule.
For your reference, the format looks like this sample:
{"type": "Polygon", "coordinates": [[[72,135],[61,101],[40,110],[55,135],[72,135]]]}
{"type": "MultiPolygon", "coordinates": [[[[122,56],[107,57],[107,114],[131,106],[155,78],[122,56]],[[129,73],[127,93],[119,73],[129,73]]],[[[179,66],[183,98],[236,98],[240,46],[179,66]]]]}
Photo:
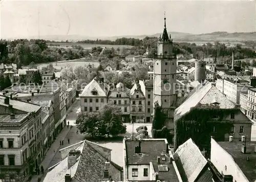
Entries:
{"type": "Polygon", "coordinates": [[[91,44],[91,43],[76,43],[76,42],[71,42],[71,43],[65,43],[65,42],[56,42],[56,43],[47,43],[47,45],[60,45],[60,46],[72,46],[72,45],[80,45],[83,48],[94,48],[94,47],[106,47],[106,48],[132,48],[133,46],[131,45],[104,45],[104,44],[91,44]]]}

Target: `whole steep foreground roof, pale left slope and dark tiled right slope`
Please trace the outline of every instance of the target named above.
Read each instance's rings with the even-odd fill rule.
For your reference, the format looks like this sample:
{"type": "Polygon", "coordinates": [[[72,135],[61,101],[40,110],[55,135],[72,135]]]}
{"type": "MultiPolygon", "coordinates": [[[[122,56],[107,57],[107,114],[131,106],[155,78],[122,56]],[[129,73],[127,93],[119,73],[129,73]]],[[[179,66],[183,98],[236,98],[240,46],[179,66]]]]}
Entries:
{"type": "MultiPolygon", "coordinates": [[[[103,181],[104,164],[107,161],[99,148],[110,150],[87,140],[76,143],[64,149],[61,149],[62,161],[53,166],[47,173],[45,182],[65,182],[65,175],[70,174],[71,178],[79,182],[99,182],[103,181]],[[97,146],[97,147],[95,147],[97,146]],[[70,150],[80,150],[81,154],[77,162],[68,168],[68,153],[70,150]]],[[[113,180],[122,180],[122,167],[110,162],[110,175],[113,180]]]]}

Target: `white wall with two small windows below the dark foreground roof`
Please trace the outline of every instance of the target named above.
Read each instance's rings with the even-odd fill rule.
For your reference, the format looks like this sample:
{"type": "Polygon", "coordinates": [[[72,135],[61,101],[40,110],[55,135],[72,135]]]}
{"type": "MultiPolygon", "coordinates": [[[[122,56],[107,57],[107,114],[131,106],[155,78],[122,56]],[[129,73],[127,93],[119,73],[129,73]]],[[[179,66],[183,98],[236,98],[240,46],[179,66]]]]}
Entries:
{"type": "Polygon", "coordinates": [[[148,165],[129,165],[128,166],[128,179],[129,180],[150,180],[150,164],[148,164],[148,165]],[[138,177],[132,176],[133,168],[138,168],[138,177]],[[148,176],[143,176],[144,168],[147,168],[148,176]]]}

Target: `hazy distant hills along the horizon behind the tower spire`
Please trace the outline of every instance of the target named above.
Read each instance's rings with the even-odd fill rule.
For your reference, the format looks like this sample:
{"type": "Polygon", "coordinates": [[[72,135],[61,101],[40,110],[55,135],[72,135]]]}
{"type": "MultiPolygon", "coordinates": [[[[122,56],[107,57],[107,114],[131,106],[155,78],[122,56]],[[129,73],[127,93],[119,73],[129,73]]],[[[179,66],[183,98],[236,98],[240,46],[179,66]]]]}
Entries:
{"type": "MultiPolygon", "coordinates": [[[[171,34],[174,41],[229,41],[229,42],[239,42],[239,41],[248,41],[248,40],[256,40],[256,32],[212,32],[206,34],[189,34],[189,33],[182,33],[182,32],[168,32],[171,34]]],[[[146,36],[149,37],[159,37],[160,33],[154,35],[123,35],[123,36],[112,36],[112,37],[90,37],[90,36],[83,36],[83,35],[46,35],[40,36],[41,39],[47,40],[116,40],[117,38],[139,38],[143,39],[146,36]]],[[[20,37],[19,37],[20,38],[20,37]]],[[[25,37],[23,37],[25,38],[25,37]]],[[[39,38],[38,36],[27,37],[28,39],[31,38],[39,38]]]]}

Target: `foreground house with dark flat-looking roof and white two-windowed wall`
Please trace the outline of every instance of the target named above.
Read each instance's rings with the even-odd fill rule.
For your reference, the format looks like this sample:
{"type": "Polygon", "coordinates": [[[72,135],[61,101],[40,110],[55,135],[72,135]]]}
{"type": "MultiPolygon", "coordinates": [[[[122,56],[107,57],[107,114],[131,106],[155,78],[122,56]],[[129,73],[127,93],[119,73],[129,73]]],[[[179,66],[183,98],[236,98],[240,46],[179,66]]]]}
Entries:
{"type": "Polygon", "coordinates": [[[166,139],[123,140],[125,181],[182,181],[166,139]]]}

